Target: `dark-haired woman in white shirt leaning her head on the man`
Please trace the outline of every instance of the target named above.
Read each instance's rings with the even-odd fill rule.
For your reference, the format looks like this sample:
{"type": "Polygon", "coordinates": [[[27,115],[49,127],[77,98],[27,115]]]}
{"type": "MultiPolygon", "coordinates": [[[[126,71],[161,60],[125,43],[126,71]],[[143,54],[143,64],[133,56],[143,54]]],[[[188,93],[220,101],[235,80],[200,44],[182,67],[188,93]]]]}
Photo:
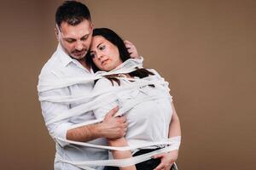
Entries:
{"type": "MultiPolygon", "coordinates": [[[[157,83],[162,78],[156,71],[144,69],[134,62],[125,48],[123,40],[115,32],[108,28],[95,29],[93,31],[90,54],[86,59],[94,71],[113,71],[112,75],[109,76],[108,74],[108,77],[96,81],[95,93],[101,91],[102,88],[123,89],[116,92],[116,101],[106,101],[101,108],[94,111],[96,118],[102,118],[105,116],[104,113],[107,113],[116,105],[119,105],[120,109],[122,107],[129,108],[130,105],[130,108],[126,109],[126,111],[123,109],[129,123],[125,138],[108,139],[109,145],[136,145],[141,142],[154,142],[181,135],[179,120],[172,104],[172,97],[168,94],[166,88],[163,88],[164,85],[157,83]],[[125,65],[129,66],[126,67],[125,65]],[[129,71],[131,67],[134,69],[129,71]],[[137,85],[138,82],[145,81],[148,81],[148,84],[132,86],[134,84],[137,85]]],[[[113,150],[112,155],[115,159],[124,159],[159,149],[160,146],[143,150],[113,150]]],[[[178,150],[172,150],[168,153],[154,156],[154,159],[149,161],[139,163],[136,167],[105,167],[105,169],[167,170],[173,167],[172,164],[177,160],[177,154],[178,150]]]]}

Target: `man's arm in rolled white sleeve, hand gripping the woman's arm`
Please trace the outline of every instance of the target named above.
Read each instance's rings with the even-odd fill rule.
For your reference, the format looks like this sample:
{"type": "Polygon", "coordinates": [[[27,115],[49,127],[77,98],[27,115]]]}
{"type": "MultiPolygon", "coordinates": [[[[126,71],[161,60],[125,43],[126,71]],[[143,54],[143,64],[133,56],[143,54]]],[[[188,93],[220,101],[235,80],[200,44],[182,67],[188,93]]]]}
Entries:
{"type": "MultiPolygon", "coordinates": [[[[67,96],[68,94],[68,88],[59,88],[39,93],[39,96],[67,96]]],[[[41,101],[41,108],[45,122],[49,122],[51,119],[60,116],[61,113],[70,109],[67,104],[58,104],[48,101],[41,101]]],[[[125,134],[127,122],[125,117],[113,117],[117,110],[118,109],[115,108],[112,111],[109,111],[108,116],[106,116],[101,123],[70,129],[74,125],[73,122],[62,120],[47,125],[47,128],[53,139],[60,138],[85,142],[97,138],[120,138],[125,134]]],[[[61,142],[60,144],[64,146],[68,143],[61,142]]]]}

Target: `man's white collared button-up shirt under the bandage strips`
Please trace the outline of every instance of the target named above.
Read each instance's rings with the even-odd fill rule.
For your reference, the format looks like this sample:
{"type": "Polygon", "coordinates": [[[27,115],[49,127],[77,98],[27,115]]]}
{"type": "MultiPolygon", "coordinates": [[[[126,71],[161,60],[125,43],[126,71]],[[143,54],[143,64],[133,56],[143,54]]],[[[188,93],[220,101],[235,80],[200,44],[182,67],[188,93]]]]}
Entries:
{"type": "MultiPolygon", "coordinates": [[[[38,80],[38,85],[43,84],[44,81],[61,82],[62,78],[68,77],[90,77],[92,71],[87,71],[83,65],[79,63],[76,59],[70,58],[61,48],[59,44],[55,51],[55,54],[44,65],[38,80]],[[43,78],[44,77],[44,78],[43,78]]],[[[46,92],[38,93],[40,97],[49,96],[68,96],[68,95],[89,95],[93,89],[94,82],[85,84],[75,84],[67,88],[58,88],[54,90],[49,90],[46,92]]],[[[55,116],[61,115],[64,111],[73,108],[79,103],[74,103],[73,105],[59,104],[48,101],[41,102],[42,113],[45,122],[53,119],[55,116]]],[[[58,137],[61,139],[67,139],[67,129],[74,124],[81,122],[86,122],[89,120],[94,120],[95,116],[91,114],[84,114],[73,117],[69,120],[62,120],[60,122],[55,122],[47,126],[49,134],[54,138],[58,137]]],[[[92,144],[106,145],[105,139],[95,139],[90,141],[92,144]]],[[[61,156],[65,160],[69,161],[90,161],[90,160],[103,160],[108,159],[107,150],[96,150],[93,148],[85,148],[83,146],[74,144],[57,144],[55,145],[56,155],[61,156]]],[[[74,167],[70,164],[63,163],[55,160],[55,170],[79,170],[79,167],[74,167]]],[[[103,167],[96,167],[96,169],[103,169],[103,167]]]]}

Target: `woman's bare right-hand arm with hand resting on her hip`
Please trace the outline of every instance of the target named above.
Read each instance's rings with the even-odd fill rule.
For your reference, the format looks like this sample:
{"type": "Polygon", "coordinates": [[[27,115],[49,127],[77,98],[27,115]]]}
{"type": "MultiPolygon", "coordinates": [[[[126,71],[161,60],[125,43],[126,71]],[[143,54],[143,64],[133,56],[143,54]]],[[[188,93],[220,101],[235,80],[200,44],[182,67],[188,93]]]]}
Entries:
{"type": "MultiPolygon", "coordinates": [[[[179,118],[177,116],[177,112],[175,111],[174,105],[172,105],[172,121],[169,125],[169,138],[172,137],[180,137],[181,136],[181,128],[179,118]]],[[[158,167],[155,167],[154,170],[161,170],[161,169],[170,169],[172,164],[177,160],[178,150],[172,150],[168,153],[162,153],[159,155],[154,156],[154,159],[161,158],[161,162],[158,167]]]]}

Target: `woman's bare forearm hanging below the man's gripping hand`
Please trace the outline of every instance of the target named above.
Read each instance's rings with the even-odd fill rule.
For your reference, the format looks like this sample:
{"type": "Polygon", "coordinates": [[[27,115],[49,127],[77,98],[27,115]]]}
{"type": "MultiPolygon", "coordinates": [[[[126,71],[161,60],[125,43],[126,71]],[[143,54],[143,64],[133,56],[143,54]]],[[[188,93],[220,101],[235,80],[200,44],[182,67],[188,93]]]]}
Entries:
{"type": "MultiPolygon", "coordinates": [[[[108,139],[108,144],[114,147],[128,146],[128,143],[124,137],[119,139],[108,139]]],[[[132,157],[131,150],[124,150],[124,151],[112,150],[112,155],[114,159],[125,159],[125,158],[132,157]]],[[[136,170],[136,167],[135,166],[119,167],[119,169],[120,170],[136,170]]]]}

